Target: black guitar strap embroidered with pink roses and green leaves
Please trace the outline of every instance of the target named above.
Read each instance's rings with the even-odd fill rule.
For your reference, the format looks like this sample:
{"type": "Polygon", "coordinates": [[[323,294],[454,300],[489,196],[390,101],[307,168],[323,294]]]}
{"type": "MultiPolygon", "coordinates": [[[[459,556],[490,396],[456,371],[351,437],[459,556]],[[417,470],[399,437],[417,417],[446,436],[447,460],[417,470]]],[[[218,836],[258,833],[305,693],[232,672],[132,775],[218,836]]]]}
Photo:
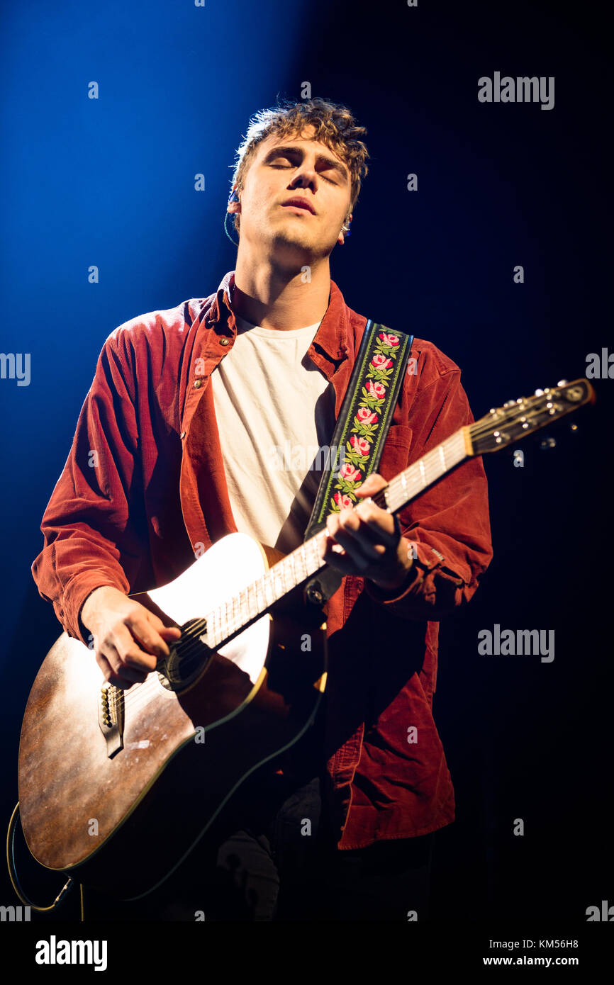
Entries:
{"type": "MultiPolygon", "coordinates": [[[[391,332],[367,322],[348,389],[329,445],[305,540],[359,499],[354,492],[375,472],[401,391],[413,335],[391,332]]],[[[307,582],[307,599],[321,605],[339,587],[343,575],[330,566],[307,582]]]]}

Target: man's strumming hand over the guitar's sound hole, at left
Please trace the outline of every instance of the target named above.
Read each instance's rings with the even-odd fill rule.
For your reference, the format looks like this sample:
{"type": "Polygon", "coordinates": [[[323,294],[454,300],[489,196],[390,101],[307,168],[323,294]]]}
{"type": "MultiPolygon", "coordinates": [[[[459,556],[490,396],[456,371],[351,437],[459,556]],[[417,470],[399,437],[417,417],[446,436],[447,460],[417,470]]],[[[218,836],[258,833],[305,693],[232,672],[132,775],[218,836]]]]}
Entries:
{"type": "Polygon", "coordinates": [[[96,661],[104,679],[116,688],[141,684],[161,657],[169,656],[167,641],[181,635],[158,616],[118,588],[103,585],[88,595],[81,622],[94,636],[96,661]]]}

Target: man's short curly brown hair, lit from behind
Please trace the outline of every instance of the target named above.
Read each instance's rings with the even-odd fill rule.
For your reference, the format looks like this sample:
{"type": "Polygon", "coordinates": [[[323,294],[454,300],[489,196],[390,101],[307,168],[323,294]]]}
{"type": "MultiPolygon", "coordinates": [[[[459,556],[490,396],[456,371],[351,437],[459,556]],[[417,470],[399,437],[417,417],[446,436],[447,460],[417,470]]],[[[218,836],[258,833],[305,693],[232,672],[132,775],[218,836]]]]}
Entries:
{"type": "MultiPolygon", "coordinates": [[[[273,134],[281,139],[295,136],[303,133],[308,126],[314,128],[312,139],[325,144],[350,171],[349,215],[358,199],[362,179],[369,170],[369,152],[360,140],[367,130],[358,125],[348,106],[328,99],[302,99],[300,102],[281,99],[268,109],[258,110],[249,120],[247,133],[236,152],[231,187],[237,186],[238,191],[242,189],[247,168],[263,140],[273,134]]],[[[235,214],[234,218],[235,229],[239,232],[239,214],[235,214]]]]}

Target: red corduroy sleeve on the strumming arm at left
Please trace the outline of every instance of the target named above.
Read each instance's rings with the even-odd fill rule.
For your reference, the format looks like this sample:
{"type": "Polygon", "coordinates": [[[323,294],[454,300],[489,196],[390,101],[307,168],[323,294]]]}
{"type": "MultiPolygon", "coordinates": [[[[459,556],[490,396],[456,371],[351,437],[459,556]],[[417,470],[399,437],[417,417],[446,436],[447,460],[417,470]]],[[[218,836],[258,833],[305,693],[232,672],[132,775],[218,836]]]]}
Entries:
{"type": "Polygon", "coordinates": [[[143,552],[138,427],[129,368],[112,333],[104,343],[64,469],[44,511],[32,573],[69,635],[88,642],[80,614],[102,585],[128,594],[143,552]],[[132,391],[132,392],[131,392],[132,391]]]}

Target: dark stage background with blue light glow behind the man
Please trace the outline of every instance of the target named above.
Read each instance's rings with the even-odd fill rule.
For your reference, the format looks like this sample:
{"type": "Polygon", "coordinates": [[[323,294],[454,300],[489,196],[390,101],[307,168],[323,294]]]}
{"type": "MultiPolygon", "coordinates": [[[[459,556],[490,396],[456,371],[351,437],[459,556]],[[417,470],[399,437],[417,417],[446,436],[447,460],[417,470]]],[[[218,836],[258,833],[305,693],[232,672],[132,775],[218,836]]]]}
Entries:
{"type": "MultiPolygon", "coordinates": [[[[3,824],[25,703],[61,630],[30,572],[42,512],[109,332],[211,294],[234,268],[222,223],[248,117],[278,95],[300,99],[308,81],[367,126],[370,173],[333,280],[355,310],[456,361],[477,418],[614,351],[605,10],[3,5],[0,349],[32,358],[30,386],[0,380],[3,824]],[[480,103],[477,80],[495,71],[554,76],[554,108],[480,103]],[[88,283],[92,264],[99,284],[88,283]],[[517,264],[524,284],[513,283],[517,264]]],[[[486,459],[495,558],[441,629],[435,716],[457,820],[438,836],[438,919],[583,921],[587,906],[614,903],[614,380],[594,385],[594,407],[546,432],[555,447],[540,447],[541,432],[525,441],[523,468],[511,450],[486,459]],[[477,633],[496,623],[554,629],[554,662],[480,656],[477,633]]],[[[1,901],[17,902],[1,879],[1,901]]],[[[57,882],[36,876],[30,894],[44,901],[57,882]]]]}

